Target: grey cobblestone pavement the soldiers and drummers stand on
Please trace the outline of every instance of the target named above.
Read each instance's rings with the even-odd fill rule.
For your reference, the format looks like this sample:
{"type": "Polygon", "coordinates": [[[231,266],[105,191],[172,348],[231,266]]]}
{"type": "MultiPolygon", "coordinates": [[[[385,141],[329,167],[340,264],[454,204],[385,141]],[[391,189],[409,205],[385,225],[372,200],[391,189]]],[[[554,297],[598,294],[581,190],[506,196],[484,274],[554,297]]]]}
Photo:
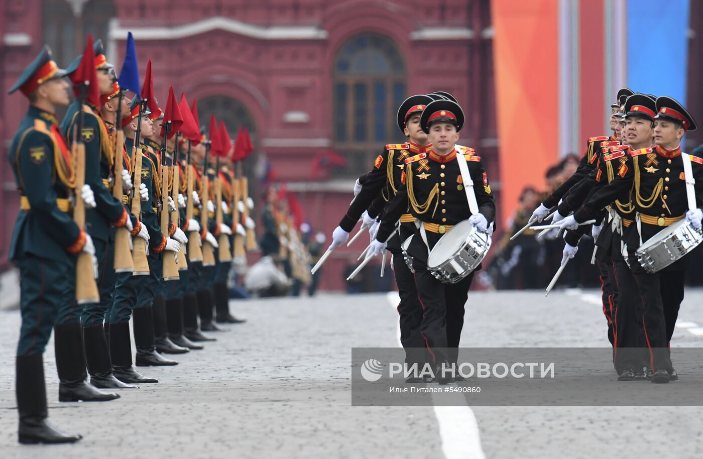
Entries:
{"type": "MultiPolygon", "coordinates": [[[[462,346],[606,347],[598,293],[472,292],[462,346]]],[[[56,401],[50,342],[44,358],[50,420],[85,437],[68,446],[16,444],[20,321],[16,311],[0,312],[0,458],[133,451],[174,459],[468,457],[462,438],[470,436],[447,437],[439,410],[350,406],[351,348],[398,345],[397,314],[387,295],[252,300],[233,302],[232,309],[247,323],[212,334],[218,341],[203,351],[176,356],[179,366],[143,368],[160,383],[123,390],[122,399],[106,403],[56,401]]],[[[676,346],[703,346],[702,291],[687,292],[679,324],[676,346]]],[[[472,410],[489,459],[703,454],[697,407],[472,410]]]]}

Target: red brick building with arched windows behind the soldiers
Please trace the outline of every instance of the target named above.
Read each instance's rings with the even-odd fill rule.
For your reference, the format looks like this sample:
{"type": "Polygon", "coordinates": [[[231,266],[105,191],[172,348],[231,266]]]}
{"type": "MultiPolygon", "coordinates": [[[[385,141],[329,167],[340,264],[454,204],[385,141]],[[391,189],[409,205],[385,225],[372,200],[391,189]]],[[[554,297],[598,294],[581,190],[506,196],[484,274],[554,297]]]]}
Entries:
{"type": "MultiPolygon", "coordinates": [[[[249,127],[250,177],[268,161],[315,230],[331,233],[352,179],[385,143],[403,141],[395,114],[413,93],[458,98],[467,115],[460,143],[482,153],[499,188],[489,0],[0,0],[0,12],[3,157],[26,107],[7,89],[42,44],[65,66],[92,32],[119,70],[131,31],[142,72],[152,60],[159,98],[173,85],[198,99],[201,120],[214,112],[232,134],[249,127]],[[330,151],[347,165],[314,167],[330,151]]],[[[6,161],[0,174],[6,261],[18,199],[6,161]]],[[[323,288],[342,288],[352,252],[338,252],[323,288]]]]}

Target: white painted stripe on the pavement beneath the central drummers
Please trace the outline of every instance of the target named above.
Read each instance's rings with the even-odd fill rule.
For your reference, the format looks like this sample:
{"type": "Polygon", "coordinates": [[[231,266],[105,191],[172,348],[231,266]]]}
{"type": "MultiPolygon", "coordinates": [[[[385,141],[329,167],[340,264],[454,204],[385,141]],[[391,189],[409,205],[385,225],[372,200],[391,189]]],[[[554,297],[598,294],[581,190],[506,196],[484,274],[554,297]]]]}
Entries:
{"type": "MultiPolygon", "coordinates": [[[[400,297],[397,292],[388,292],[386,298],[396,309],[400,297]]],[[[399,346],[400,327],[396,328],[399,346]]],[[[441,449],[446,459],[484,459],[481,437],[476,416],[469,406],[434,406],[434,415],[439,424],[441,449]]]]}

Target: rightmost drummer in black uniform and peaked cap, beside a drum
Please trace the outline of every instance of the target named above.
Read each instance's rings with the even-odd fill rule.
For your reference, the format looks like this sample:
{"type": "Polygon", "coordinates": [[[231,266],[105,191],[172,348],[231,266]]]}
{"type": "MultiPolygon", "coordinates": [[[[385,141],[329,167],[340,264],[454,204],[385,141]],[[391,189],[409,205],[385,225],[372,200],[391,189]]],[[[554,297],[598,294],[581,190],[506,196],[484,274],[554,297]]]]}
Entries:
{"type": "MultiPolygon", "coordinates": [[[[700,208],[688,210],[683,155],[692,162],[695,178],[695,199],[703,205],[703,160],[681,152],[681,138],[687,130],[696,128],[686,110],[669,97],[657,98],[658,113],[654,116],[654,148],[640,148],[630,152],[631,162],[619,167],[618,175],[586,202],[574,215],[562,221],[562,228],[576,228],[577,222],[593,218],[595,212],[614,200],[626,200],[632,193],[637,212],[638,231],[632,231],[627,243],[631,271],[636,278],[640,301],[643,304],[643,331],[650,351],[652,382],[669,382],[678,376],[673,371],[669,355],[666,316],[675,321],[675,313],[683,300],[683,283],[688,257],[667,266],[657,273],[647,273],[636,257],[642,243],[666,226],[683,218],[698,229],[703,212],[700,208]],[[662,297],[666,290],[666,302],[662,297]]],[[[673,325],[671,325],[673,332],[673,325]]]]}

